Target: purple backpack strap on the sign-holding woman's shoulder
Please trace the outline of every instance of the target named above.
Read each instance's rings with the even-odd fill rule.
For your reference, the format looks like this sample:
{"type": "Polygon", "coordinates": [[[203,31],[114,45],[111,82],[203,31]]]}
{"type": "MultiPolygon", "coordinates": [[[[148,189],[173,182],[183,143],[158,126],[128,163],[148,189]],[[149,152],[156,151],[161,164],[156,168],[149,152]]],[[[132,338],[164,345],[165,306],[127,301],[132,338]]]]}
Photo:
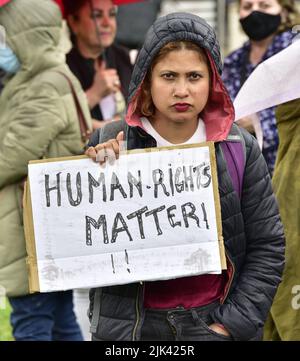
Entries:
{"type": "Polygon", "coordinates": [[[233,188],[241,199],[246,164],[246,145],[236,124],[232,125],[227,139],[221,142],[221,150],[227,163],[233,188]]]}

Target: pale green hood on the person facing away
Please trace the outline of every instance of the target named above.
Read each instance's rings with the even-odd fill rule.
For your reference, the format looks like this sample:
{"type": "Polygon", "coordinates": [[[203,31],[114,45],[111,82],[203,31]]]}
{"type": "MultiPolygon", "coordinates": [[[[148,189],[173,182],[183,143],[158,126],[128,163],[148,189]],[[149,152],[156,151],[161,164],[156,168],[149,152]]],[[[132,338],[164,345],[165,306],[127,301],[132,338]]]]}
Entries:
{"type": "Polygon", "coordinates": [[[22,70],[33,73],[63,62],[57,52],[62,17],[52,0],[11,0],[0,8],[0,24],[22,70]]]}

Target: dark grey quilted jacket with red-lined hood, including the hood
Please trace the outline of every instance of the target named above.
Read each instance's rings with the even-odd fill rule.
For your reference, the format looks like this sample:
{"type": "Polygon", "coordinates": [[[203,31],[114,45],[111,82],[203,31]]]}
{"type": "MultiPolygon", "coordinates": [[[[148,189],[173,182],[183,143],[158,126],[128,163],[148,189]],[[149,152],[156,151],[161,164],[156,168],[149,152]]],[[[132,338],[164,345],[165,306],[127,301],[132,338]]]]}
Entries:
{"type": "MultiPolygon", "coordinates": [[[[126,115],[128,149],[156,146],[155,140],[140,127],[140,85],[158,51],[174,40],[193,41],[206,49],[212,68],[212,89],[201,117],[208,140],[215,141],[229,279],[220,305],[211,317],[223,324],[235,340],[260,339],[284,266],[283,228],[265,161],[256,140],[244,130],[241,134],[246,164],[241,199],[233,188],[220,142],[232,128],[234,109],[220,79],[222,66],[215,33],[203,19],[191,14],[170,14],[159,18],[149,30],[130,85],[126,115]]],[[[114,138],[121,125],[112,123],[104,128],[101,141],[114,138]]],[[[98,143],[96,132],[90,146],[98,143]]],[[[140,339],[143,284],[93,289],[90,301],[94,340],[140,339]]],[[[184,336],[177,339],[186,340],[184,336]]]]}

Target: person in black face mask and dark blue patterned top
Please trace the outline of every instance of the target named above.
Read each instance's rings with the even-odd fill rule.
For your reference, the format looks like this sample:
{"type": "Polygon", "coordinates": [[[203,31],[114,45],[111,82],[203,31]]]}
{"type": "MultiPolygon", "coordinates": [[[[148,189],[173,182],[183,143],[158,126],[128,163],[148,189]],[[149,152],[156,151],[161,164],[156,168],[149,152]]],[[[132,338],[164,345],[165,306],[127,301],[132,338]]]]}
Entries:
{"type": "MultiPolygon", "coordinates": [[[[232,100],[258,64],[291,44],[291,28],[298,16],[294,0],[240,0],[239,5],[240,23],[249,40],[224,61],[222,78],[232,100]]],[[[274,108],[257,116],[263,133],[262,152],[272,175],[279,143],[274,108]]],[[[254,133],[251,117],[239,120],[239,125],[254,133]]]]}

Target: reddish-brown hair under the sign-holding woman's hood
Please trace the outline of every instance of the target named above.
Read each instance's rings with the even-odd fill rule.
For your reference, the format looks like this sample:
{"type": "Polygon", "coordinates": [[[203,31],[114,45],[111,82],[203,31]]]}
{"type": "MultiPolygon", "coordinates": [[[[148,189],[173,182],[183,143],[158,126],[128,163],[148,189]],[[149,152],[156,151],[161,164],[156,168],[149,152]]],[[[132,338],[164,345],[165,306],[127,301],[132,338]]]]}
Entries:
{"type": "Polygon", "coordinates": [[[172,41],[166,44],[164,47],[162,47],[158,52],[158,54],[153,59],[151,68],[148,70],[141,87],[139,109],[142,116],[152,117],[155,113],[155,106],[152,101],[151,90],[150,90],[151,76],[155,65],[171,51],[178,51],[178,50],[194,50],[199,54],[199,57],[202,61],[204,61],[206,64],[209,64],[205,51],[191,41],[172,41]]]}

